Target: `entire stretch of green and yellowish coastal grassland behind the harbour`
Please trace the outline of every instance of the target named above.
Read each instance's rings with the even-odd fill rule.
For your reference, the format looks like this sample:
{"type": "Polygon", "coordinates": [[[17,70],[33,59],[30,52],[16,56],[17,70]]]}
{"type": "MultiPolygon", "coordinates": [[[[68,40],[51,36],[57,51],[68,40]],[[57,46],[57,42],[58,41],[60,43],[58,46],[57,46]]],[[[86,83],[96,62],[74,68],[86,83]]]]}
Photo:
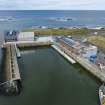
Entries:
{"type": "Polygon", "coordinates": [[[98,46],[105,52],[105,30],[95,30],[95,29],[67,29],[67,28],[59,28],[59,29],[27,29],[25,32],[31,31],[36,35],[70,35],[76,38],[87,38],[88,42],[98,46]],[[98,34],[95,35],[94,32],[98,34]]]}

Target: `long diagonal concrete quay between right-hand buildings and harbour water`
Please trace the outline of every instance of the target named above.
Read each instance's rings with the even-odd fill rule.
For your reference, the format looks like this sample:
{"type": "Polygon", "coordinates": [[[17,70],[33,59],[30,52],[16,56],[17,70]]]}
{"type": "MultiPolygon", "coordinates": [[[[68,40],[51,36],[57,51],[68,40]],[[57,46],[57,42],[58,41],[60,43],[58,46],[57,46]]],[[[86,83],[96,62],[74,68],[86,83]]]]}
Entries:
{"type": "Polygon", "coordinates": [[[68,56],[72,57],[75,61],[77,61],[80,65],[82,65],[88,72],[90,72],[92,75],[94,75],[96,78],[98,78],[101,82],[105,82],[105,72],[101,71],[98,66],[91,63],[87,59],[83,58],[80,55],[76,55],[72,53],[67,48],[63,47],[60,44],[57,44],[57,46],[64,51],[68,56]]]}

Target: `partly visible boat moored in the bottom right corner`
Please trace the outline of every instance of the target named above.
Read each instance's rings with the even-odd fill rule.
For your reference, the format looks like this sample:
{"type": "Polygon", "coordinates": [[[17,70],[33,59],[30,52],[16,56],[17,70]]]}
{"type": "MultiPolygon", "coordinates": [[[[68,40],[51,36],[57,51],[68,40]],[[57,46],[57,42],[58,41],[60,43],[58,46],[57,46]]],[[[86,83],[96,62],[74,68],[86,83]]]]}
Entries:
{"type": "Polygon", "coordinates": [[[105,105],[105,85],[101,85],[99,87],[99,99],[100,99],[100,105],[105,105]]]}

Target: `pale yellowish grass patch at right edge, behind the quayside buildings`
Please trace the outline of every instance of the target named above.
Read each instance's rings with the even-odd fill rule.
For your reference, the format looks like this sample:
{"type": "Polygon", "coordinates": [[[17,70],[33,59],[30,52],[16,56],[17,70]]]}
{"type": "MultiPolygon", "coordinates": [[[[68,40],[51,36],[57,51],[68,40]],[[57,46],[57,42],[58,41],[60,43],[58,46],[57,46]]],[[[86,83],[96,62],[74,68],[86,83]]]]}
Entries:
{"type": "Polygon", "coordinates": [[[91,36],[88,38],[88,42],[98,46],[105,52],[105,37],[103,36],[91,36]]]}

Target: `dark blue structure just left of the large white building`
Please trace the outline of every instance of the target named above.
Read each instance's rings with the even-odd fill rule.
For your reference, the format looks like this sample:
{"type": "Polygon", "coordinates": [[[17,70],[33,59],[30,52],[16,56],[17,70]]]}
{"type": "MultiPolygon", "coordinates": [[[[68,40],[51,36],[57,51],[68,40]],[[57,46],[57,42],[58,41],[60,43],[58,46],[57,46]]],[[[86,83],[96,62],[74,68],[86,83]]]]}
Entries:
{"type": "Polygon", "coordinates": [[[17,35],[18,35],[18,32],[15,30],[5,31],[4,33],[5,42],[17,41],[17,35]]]}

